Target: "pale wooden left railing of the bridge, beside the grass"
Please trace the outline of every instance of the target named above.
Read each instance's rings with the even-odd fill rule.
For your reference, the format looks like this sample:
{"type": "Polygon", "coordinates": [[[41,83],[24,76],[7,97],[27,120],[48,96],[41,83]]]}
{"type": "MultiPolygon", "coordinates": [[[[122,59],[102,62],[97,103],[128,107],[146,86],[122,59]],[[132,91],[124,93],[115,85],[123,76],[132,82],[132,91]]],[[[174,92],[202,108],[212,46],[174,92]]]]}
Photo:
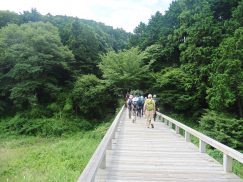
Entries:
{"type": "Polygon", "coordinates": [[[95,180],[95,175],[98,169],[105,168],[106,160],[106,150],[111,147],[112,139],[115,136],[115,132],[120,121],[121,114],[124,110],[124,106],[121,108],[119,113],[116,115],[116,118],[112,122],[110,128],[106,132],[105,136],[101,140],[99,146],[94,152],[93,156],[89,160],[89,163],[86,165],[82,174],[80,175],[78,182],[90,182],[95,180]]]}

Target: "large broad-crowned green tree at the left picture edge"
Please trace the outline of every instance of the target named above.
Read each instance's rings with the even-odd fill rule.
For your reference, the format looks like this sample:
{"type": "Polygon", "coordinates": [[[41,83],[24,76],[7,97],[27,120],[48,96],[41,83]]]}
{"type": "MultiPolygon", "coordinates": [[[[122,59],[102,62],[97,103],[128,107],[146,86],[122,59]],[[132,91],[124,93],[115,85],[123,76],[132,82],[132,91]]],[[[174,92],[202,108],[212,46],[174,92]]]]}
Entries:
{"type": "Polygon", "coordinates": [[[71,79],[72,59],[50,23],[10,24],[0,30],[0,95],[21,108],[50,102],[71,79]]]}

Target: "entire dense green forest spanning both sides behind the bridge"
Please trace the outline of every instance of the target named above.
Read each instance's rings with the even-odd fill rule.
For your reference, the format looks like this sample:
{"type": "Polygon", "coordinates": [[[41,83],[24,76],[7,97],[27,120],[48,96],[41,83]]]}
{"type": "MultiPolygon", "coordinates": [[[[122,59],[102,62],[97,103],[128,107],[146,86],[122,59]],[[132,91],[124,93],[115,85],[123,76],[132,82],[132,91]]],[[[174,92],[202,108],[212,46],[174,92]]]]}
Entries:
{"type": "Polygon", "coordinates": [[[132,90],[243,151],[243,1],[175,0],[134,33],[0,11],[0,133],[90,130],[132,90]]]}

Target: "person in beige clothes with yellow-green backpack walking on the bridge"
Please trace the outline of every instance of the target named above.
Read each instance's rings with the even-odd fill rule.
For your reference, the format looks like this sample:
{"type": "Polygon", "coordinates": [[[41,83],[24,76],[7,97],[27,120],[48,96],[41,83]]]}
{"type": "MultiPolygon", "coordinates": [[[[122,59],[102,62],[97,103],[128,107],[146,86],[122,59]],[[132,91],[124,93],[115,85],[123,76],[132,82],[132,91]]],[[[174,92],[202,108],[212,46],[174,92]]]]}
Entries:
{"type": "Polygon", "coordinates": [[[143,108],[146,118],[147,118],[147,127],[149,128],[150,125],[152,128],[154,128],[154,121],[153,121],[153,116],[155,113],[155,103],[152,99],[152,95],[148,95],[148,99],[146,99],[144,103],[144,108],[143,108]]]}

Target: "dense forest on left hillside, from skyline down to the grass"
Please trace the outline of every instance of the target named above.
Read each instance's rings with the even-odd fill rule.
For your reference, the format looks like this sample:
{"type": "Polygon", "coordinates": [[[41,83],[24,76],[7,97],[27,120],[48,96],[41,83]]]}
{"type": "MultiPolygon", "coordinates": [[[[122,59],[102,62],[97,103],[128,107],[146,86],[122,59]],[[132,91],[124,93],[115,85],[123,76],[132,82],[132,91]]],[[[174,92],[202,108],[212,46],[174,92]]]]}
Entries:
{"type": "Polygon", "coordinates": [[[114,113],[117,98],[99,79],[97,65],[102,54],[127,47],[129,33],[91,20],[43,16],[36,9],[1,11],[0,28],[0,114],[12,117],[3,130],[44,134],[43,125],[53,118],[95,122],[114,113]]]}

